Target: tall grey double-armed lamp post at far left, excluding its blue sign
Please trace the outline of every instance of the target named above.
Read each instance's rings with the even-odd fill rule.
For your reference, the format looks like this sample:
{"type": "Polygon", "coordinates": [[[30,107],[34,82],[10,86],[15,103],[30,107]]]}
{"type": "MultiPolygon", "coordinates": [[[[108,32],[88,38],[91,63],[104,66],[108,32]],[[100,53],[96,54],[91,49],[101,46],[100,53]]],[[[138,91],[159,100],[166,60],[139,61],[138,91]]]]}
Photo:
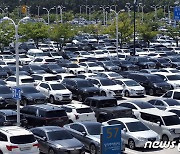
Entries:
{"type": "MultiPolygon", "coordinates": [[[[29,17],[24,17],[21,20],[19,20],[19,22],[16,24],[14,22],[14,20],[12,20],[9,17],[4,17],[3,20],[9,20],[13,23],[14,28],[15,28],[15,51],[16,51],[16,87],[19,87],[19,49],[18,49],[18,27],[20,22],[22,22],[23,20],[27,20],[29,19],[29,17]]],[[[17,99],[17,125],[20,126],[20,100],[17,99]]]]}

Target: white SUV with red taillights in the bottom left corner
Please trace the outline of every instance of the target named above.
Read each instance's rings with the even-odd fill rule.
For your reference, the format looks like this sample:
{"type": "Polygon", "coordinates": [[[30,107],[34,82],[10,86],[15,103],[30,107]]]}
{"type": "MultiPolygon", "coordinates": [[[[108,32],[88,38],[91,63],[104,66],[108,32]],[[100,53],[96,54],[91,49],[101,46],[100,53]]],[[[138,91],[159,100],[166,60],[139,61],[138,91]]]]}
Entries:
{"type": "Polygon", "coordinates": [[[32,132],[18,126],[0,127],[3,154],[39,154],[39,144],[32,132]]]}

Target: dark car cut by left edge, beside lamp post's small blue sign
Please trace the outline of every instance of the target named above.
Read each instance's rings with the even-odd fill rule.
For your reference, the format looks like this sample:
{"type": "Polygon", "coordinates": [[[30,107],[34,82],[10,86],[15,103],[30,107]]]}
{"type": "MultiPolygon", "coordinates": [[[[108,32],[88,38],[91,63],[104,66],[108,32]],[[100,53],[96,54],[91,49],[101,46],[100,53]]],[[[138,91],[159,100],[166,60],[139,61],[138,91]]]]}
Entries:
{"type": "Polygon", "coordinates": [[[5,85],[0,85],[0,108],[10,108],[16,107],[16,101],[12,98],[13,94],[9,87],[5,85]]]}

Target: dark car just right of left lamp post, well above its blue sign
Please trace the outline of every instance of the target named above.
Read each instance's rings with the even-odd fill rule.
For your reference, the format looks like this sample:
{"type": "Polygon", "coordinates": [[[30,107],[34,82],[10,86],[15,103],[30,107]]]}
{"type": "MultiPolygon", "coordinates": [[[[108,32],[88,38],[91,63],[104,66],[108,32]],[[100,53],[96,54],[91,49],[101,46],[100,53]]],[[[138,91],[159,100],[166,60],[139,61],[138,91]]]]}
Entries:
{"type": "Polygon", "coordinates": [[[22,70],[27,71],[29,74],[46,73],[44,68],[38,65],[24,65],[22,70]]]}

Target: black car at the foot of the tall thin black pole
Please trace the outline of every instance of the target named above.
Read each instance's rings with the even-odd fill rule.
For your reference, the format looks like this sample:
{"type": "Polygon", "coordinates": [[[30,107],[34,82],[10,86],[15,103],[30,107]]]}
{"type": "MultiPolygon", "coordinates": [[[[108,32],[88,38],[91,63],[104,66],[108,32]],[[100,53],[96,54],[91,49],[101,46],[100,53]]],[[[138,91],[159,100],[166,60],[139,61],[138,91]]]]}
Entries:
{"type": "Polygon", "coordinates": [[[138,65],[140,69],[156,67],[156,64],[150,61],[147,57],[129,56],[127,57],[127,60],[135,65],[138,65]]]}

